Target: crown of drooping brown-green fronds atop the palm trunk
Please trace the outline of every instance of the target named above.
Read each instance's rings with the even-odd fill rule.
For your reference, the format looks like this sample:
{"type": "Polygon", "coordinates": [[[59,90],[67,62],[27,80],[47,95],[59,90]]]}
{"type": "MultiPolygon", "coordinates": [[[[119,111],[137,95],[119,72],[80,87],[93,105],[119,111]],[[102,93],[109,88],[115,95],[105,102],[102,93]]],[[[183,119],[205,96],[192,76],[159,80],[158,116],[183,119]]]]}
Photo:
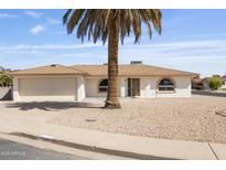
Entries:
{"type": "Polygon", "coordinates": [[[63,23],[67,33],[73,33],[77,26],[77,38],[84,41],[85,36],[96,43],[101,40],[105,44],[109,35],[110,18],[117,19],[118,34],[123,44],[126,36],[134,35],[134,43],[139,43],[142,32],[142,23],[147,25],[149,36],[152,36],[152,28],[161,33],[161,11],[158,9],[76,9],[67,10],[63,17],[63,23]]]}

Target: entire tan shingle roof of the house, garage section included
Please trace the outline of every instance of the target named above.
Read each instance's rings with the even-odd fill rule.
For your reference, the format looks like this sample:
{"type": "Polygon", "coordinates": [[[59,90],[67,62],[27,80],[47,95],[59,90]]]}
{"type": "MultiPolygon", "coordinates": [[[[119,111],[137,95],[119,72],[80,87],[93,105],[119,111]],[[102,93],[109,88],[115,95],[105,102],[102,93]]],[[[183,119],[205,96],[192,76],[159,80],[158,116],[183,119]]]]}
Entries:
{"type": "MultiPolygon", "coordinates": [[[[29,70],[11,72],[11,75],[88,75],[88,76],[107,76],[107,65],[47,65],[29,70]]],[[[163,68],[150,65],[119,65],[119,76],[172,76],[187,75],[196,76],[198,74],[163,68]]]]}

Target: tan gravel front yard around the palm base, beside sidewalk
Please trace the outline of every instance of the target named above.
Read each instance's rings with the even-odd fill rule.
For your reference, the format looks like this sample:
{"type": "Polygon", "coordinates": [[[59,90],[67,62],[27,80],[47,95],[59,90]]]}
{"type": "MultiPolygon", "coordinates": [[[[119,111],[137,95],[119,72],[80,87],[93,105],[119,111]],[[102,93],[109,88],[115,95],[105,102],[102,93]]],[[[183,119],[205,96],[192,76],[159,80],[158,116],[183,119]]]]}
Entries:
{"type": "MultiPolygon", "coordinates": [[[[62,109],[46,123],[133,136],[226,144],[226,97],[122,99],[121,109],[104,104],[62,109]]],[[[50,111],[49,111],[50,113],[50,111]]]]}

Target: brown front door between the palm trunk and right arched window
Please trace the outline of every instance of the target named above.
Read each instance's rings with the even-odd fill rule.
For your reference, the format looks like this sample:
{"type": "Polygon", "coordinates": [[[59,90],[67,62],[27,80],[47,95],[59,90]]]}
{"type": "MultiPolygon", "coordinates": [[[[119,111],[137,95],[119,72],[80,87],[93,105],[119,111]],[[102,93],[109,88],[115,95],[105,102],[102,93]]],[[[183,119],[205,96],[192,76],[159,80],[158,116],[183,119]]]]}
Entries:
{"type": "Polygon", "coordinates": [[[128,78],[128,96],[140,96],[140,78],[128,78]]]}

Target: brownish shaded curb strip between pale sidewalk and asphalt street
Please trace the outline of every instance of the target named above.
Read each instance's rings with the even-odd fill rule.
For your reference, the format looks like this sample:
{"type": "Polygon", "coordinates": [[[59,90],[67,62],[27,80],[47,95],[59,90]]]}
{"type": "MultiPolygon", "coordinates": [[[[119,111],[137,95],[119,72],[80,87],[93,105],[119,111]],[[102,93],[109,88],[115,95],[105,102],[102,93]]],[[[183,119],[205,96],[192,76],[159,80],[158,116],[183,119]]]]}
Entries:
{"type": "Polygon", "coordinates": [[[83,144],[74,144],[74,142],[58,140],[58,139],[54,139],[54,138],[45,138],[45,137],[42,137],[42,136],[34,136],[34,135],[30,135],[30,134],[25,134],[25,132],[10,132],[10,134],[7,134],[7,135],[24,137],[24,138],[29,138],[29,139],[33,139],[33,140],[43,140],[43,141],[65,146],[65,147],[71,147],[71,148],[76,148],[76,149],[82,149],[82,150],[87,150],[87,151],[94,151],[94,152],[99,152],[99,153],[106,153],[106,155],[111,155],[111,156],[133,158],[133,159],[141,159],[141,160],[177,160],[175,158],[163,158],[163,157],[157,157],[157,156],[151,156],[151,155],[142,155],[142,153],[130,152],[130,151],[100,148],[100,147],[88,146],[88,145],[83,145],[83,144]]]}

